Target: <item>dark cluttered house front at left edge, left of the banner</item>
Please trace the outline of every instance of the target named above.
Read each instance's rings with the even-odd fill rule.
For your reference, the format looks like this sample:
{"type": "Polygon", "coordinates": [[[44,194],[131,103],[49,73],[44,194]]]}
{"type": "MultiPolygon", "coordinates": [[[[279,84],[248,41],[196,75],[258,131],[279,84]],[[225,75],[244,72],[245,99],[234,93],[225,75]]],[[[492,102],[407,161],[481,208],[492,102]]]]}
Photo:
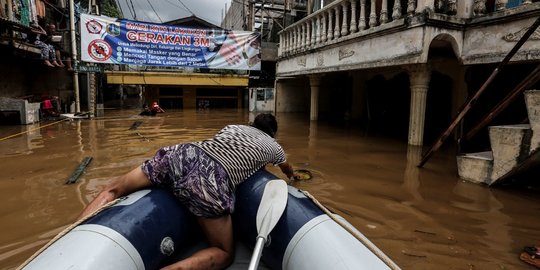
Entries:
{"type": "MultiPolygon", "coordinates": [[[[69,108],[73,98],[72,72],[66,67],[44,64],[41,49],[33,40],[33,31],[54,25],[63,48],[63,64],[71,53],[69,46],[69,15],[65,1],[0,0],[0,97],[10,100],[3,104],[37,104],[54,97],[58,107],[69,108]]],[[[0,106],[1,123],[30,124],[39,121],[39,112],[32,121],[12,121],[17,118],[13,106],[0,106]]],[[[30,106],[35,107],[35,106],[30,106]]],[[[29,112],[32,114],[32,112],[29,112]]],[[[24,118],[24,117],[23,117],[24,118]]]]}

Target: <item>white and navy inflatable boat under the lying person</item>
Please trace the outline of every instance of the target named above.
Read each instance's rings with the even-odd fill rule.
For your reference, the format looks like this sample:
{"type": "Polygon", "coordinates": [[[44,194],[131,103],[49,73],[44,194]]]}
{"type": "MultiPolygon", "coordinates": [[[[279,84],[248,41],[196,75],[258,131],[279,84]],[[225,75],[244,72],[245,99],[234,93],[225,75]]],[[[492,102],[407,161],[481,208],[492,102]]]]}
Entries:
{"type": "MultiPolygon", "coordinates": [[[[247,269],[257,238],[265,184],[261,170],[237,190],[233,215],[237,252],[229,269],[247,269]]],[[[399,269],[343,218],[323,211],[288,186],[287,205],[262,250],[260,269],[399,269]]],[[[20,269],[159,269],[205,246],[193,217],[168,192],[149,189],[75,226],[20,269]]]]}

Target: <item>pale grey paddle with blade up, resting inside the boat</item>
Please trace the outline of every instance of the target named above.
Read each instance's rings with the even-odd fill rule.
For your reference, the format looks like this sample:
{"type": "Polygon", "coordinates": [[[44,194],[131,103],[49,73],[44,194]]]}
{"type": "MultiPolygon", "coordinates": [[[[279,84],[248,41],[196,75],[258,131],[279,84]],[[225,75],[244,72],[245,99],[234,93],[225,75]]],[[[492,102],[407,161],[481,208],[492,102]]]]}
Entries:
{"type": "Polygon", "coordinates": [[[266,243],[268,234],[274,229],[287,206],[287,183],[283,180],[270,180],[264,187],[261,204],[257,209],[257,242],[253,249],[253,255],[249,262],[249,270],[257,269],[261,259],[263,245],[266,243]]]}

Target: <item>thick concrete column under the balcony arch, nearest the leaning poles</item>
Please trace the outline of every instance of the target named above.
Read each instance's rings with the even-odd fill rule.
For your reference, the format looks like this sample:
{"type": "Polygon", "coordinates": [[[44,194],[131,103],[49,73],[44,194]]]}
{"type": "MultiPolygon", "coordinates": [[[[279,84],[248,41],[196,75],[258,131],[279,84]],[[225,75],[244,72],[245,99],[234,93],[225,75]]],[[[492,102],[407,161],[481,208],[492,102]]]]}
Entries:
{"type": "Polygon", "coordinates": [[[411,82],[411,107],[409,118],[409,144],[422,145],[424,140],[424,121],[426,113],[427,91],[431,67],[426,64],[407,68],[411,82]]]}

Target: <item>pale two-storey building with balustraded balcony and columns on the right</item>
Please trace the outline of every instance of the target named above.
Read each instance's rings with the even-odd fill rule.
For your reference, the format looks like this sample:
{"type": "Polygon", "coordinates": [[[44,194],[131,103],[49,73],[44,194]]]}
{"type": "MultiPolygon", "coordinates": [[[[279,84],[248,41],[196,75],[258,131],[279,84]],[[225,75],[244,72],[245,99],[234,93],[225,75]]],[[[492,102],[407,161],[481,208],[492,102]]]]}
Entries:
{"type": "MultiPolygon", "coordinates": [[[[540,16],[540,3],[527,0],[319,4],[280,32],[276,111],[354,121],[410,145],[434,142],[540,16]]],[[[540,63],[539,33],[496,72],[457,131],[475,126],[540,63]]],[[[495,121],[523,121],[522,108],[495,121]]]]}

